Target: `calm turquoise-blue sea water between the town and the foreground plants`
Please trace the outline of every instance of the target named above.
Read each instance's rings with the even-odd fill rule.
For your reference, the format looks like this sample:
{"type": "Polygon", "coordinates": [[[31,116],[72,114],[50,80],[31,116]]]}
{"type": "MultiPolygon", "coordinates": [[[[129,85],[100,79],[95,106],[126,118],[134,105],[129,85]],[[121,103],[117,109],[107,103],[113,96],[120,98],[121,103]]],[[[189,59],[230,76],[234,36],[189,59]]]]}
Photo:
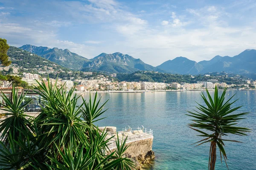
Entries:
{"type": "MultiPolygon", "coordinates": [[[[204,92],[205,93],[205,92],[204,92]]],[[[210,92],[213,94],[213,92],[210,92]]],[[[240,112],[251,112],[240,121],[242,127],[252,129],[247,136],[228,136],[244,143],[226,142],[227,164],[230,170],[256,169],[256,91],[227,91],[226,98],[233,94],[243,105],[240,112]],[[254,94],[253,94],[254,93],[254,94]]],[[[153,130],[153,151],[156,158],[150,170],[207,170],[209,144],[191,145],[202,139],[187,127],[189,116],[186,110],[195,109],[197,101],[203,104],[200,92],[145,92],[145,93],[102,93],[102,102],[109,99],[105,108],[107,118],[99,126],[117,128],[143,125],[153,130]]],[[[87,94],[84,94],[87,98],[87,94]]],[[[217,157],[216,170],[227,170],[217,157]]]]}

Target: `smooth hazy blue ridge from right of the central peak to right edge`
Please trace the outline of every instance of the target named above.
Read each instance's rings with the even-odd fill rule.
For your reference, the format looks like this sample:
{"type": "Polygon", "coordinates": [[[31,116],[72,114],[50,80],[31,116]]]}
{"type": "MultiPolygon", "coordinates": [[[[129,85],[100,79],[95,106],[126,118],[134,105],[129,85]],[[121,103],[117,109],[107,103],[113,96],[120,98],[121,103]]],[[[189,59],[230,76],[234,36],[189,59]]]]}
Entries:
{"type": "Polygon", "coordinates": [[[209,72],[228,72],[238,74],[256,73],[256,50],[247,49],[234,57],[219,55],[209,61],[195,62],[184,57],[177,57],[157,66],[170,73],[205,74],[209,72]]]}

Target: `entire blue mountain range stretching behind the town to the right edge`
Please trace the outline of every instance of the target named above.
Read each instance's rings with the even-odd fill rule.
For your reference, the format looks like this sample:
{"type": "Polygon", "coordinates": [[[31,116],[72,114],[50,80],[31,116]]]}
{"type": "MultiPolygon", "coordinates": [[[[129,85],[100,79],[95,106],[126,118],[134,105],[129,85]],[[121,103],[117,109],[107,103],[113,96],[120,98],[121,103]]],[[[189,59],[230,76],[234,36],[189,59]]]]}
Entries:
{"type": "Polygon", "coordinates": [[[102,53],[95,58],[87,59],[68,49],[48,48],[43,46],[24,45],[20,49],[32,52],[49,61],[69,69],[83,71],[102,71],[111,73],[131,73],[140,70],[168,72],[173,74],[205,74],[208,72],[256,73],[256,50],[247,49],[234,57],[215,56],[209,61],[192,61],[177,57],[157,67],[144,63],[130,55],[116,52],[102,53]]]}

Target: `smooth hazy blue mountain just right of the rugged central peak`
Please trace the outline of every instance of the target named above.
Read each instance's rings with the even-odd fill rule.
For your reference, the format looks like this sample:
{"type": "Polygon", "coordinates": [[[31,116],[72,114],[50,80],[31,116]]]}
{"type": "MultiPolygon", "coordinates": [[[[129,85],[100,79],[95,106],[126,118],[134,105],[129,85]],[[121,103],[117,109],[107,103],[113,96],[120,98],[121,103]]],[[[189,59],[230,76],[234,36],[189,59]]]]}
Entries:
{"type": "Polygon", "coordinates": [[[189,60],[185,57],[177,57],[173,60],[166,61],[162,63],[160,66],[157,66],[157,68],[163,69],[170,73],[192,75],[197,75],[204,69],[204,67],[201,64],[189,60]]]}

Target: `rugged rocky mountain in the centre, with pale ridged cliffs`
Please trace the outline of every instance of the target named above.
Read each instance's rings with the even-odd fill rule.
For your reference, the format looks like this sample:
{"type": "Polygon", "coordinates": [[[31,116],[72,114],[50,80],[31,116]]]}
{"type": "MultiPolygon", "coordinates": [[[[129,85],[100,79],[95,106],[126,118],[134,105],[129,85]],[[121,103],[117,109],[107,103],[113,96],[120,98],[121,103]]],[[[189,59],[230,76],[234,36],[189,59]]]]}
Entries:
{"type": "Polygon", "coordinates": [[[133,58],[130,55],[124,55],[120,52],[113,54],[102,53],[95,58],[90,59],[91,62],[84,63],[83,70],[96,70],[113,73],[131,73],[139,70],[159,71],[162,69],[144,63],[140,59],[133,58]]]}

